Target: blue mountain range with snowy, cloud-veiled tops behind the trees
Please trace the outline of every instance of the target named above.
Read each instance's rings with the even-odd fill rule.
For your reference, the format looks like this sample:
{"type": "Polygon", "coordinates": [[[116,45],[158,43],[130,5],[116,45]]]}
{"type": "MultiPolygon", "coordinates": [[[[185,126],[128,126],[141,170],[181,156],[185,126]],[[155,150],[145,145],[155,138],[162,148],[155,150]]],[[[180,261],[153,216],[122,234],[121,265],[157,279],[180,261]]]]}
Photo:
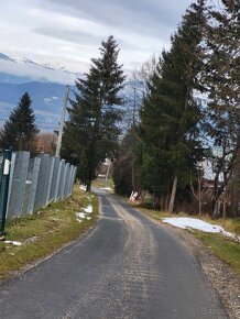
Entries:
{"type": "Polygon", "coordinates": [[[65,86],[70,85],[74,89],[74,81],[80,76],[64,67],[37,64],[28,58],[17,61],[0,53],[0,127],[28,91],[40,130],[57,130],[65,86]]]}

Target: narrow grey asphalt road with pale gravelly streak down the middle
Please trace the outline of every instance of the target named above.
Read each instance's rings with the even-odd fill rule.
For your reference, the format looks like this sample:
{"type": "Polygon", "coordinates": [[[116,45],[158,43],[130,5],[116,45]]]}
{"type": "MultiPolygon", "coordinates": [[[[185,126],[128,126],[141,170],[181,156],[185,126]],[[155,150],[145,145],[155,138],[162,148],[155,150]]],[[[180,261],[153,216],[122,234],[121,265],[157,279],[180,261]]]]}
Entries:
{"type": "Polygon", "coordinates": [[[228,318],[179,239],[118,197],[99,196],[94,230],[0,286],[1,319],[228,318]]]}

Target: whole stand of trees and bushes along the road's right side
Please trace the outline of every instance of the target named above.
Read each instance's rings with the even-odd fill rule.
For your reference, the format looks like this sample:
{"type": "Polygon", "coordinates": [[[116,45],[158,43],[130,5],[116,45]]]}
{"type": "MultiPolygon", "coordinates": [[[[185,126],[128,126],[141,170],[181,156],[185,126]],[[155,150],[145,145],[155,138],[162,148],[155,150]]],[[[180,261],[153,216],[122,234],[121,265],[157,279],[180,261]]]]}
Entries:
{"type": "Polygon", "coordinates": [[[236,0],[195,1],[170,48],[133,74],[117,194],[148,193],[168,212],[240,217],[239,10],[236,0]]]}

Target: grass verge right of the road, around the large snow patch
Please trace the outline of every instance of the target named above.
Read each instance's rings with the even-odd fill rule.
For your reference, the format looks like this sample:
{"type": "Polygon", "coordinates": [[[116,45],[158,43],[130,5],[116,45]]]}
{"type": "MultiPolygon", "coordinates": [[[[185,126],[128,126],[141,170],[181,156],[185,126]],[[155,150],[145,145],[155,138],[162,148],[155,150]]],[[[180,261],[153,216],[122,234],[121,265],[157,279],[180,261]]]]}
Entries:
{"type": "MultiPolygon", "coordinates": [[[[129,201],[128,201],[129,202],[129,201]]],[[[155,211],[146,208],[142,208],[137,204],[129,202],[131,206],[138,208],[149,217],[161,221],[162,218],[166,217],[189,217],[186,213],[167,213],[164,211],[155,211]]],[[[212,224],[223,227],[225,230],[233,232],[240,235],[240,218],[234,219],[218,219],[211,220],[206,216],[194,216],[212,224]]],[[[216,254],[220,260],[230,265],[236,273],[240,276],[240,244],[231,241],[220,234],[205,233],[201,231],[190,231],[197,239],[199,239],[210,251],[216,254]]]]}

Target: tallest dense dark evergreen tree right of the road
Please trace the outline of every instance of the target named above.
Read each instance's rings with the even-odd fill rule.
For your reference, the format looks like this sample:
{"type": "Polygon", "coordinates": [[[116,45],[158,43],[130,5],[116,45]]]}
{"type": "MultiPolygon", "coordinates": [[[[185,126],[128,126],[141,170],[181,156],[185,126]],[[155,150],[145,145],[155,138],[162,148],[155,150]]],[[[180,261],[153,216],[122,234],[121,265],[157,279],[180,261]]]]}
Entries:
{"type": "Polygon", "coordinates": [[[170,211],[177,183],[182,188],[187,185],[200,155],[200,110],[194,90],[200,89],[197,76],[201,67],[204,6],[205,1],[199,0],[187,10],[171,38],[171,50],[162,53],[140,111],[140,180],[157,198],[165,199],[173,185],[170,211]]]}

